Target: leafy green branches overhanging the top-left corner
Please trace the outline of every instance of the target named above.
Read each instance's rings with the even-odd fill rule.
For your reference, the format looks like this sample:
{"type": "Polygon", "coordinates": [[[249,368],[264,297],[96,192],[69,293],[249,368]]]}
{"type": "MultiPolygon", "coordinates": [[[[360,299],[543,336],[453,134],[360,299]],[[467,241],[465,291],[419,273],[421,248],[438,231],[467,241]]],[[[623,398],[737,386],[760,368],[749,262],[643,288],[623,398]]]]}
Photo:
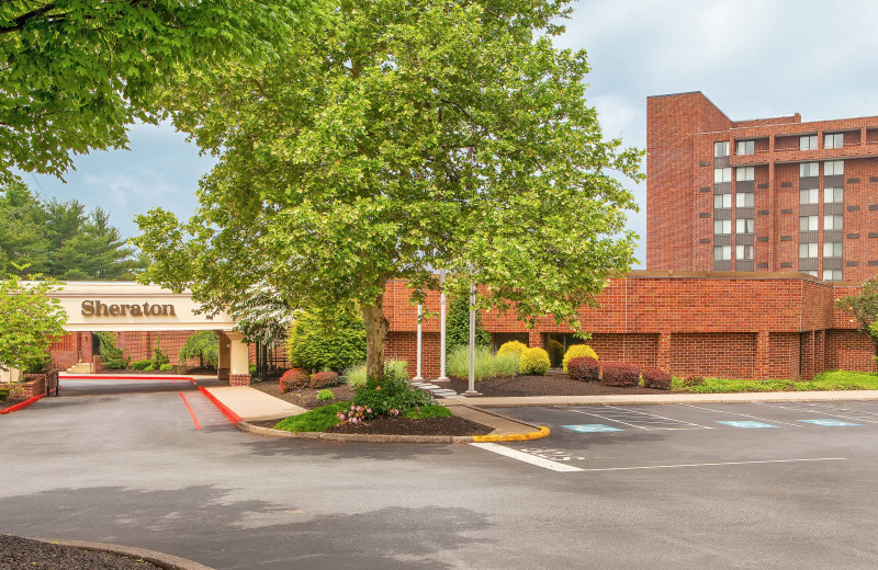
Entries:
{"type": "Polygon", "coordinates": [[[266,57],[305,0],[0,2],[0,183],[61,175],[71,153],[126,148],[178,69],[266,57]]]}

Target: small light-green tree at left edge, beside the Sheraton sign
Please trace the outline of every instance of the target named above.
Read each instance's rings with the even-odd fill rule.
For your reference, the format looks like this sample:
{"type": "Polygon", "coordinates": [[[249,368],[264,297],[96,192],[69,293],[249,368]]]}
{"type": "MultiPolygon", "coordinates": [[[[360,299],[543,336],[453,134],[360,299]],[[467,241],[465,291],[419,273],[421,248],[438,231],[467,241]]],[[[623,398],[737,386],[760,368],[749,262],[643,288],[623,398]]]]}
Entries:
{"type": "Polygon", "coordinates": [[[16,275],[0,281],[0,368],[26,369],[43,363],[49,344],[64,335],[67,315],[52,280],[23,282],[16,275]]]}

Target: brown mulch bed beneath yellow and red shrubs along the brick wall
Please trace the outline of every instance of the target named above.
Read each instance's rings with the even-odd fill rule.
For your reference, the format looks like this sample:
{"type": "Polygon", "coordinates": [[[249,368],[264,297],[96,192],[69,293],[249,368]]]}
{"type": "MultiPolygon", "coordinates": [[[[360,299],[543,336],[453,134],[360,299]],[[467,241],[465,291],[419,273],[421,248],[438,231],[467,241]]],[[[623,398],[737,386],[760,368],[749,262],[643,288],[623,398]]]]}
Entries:
{"type": "MultiPolygon", "coordinates": [[[[449,381],[435,383],[458,394],[470,389],[465,379],[452,377],[449,381]]],[[[609,396],[617,394],[668,394],[653,388],[620,388],[604,386],[597,381],[573,380],[562,372],[550,371],[545,376],[515,376],[513,378],[488,378],[475,383],[475,391],[482,396],[609,396]]],[[[479,403],[479,396],[473,396],[479,403]]]]}

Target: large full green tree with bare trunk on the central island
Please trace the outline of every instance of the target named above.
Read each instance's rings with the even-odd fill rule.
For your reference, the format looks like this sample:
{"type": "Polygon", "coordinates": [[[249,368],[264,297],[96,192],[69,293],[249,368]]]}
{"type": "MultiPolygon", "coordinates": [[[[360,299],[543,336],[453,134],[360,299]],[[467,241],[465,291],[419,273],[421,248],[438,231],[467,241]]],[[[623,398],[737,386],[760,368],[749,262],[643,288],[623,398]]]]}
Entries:
{"type": "Polygon", "coordinates": [[[638,150],[603,137],[584,52],[560,50],[569,2],[338,1],[290,53],[193,73],[178,128],[219,157],[181,225],[138,217],[143,280],[219,309],[255,283],[290,307],[356,301],[382,373],[390,280],[480,285],[480,307],[578,327],[633,261],[616,174],[638,150]]]}

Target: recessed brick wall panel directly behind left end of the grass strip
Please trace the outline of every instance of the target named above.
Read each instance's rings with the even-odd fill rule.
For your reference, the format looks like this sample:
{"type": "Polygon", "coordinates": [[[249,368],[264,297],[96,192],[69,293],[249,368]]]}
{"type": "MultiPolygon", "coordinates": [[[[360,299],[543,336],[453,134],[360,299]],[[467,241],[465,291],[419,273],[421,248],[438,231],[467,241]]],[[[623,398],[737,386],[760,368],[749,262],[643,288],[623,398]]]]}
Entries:
{"type": "Polygon", "coordinates": [[[671,374],[752,378],[756,354],[755,333],[671,335],[671,374]]]}

